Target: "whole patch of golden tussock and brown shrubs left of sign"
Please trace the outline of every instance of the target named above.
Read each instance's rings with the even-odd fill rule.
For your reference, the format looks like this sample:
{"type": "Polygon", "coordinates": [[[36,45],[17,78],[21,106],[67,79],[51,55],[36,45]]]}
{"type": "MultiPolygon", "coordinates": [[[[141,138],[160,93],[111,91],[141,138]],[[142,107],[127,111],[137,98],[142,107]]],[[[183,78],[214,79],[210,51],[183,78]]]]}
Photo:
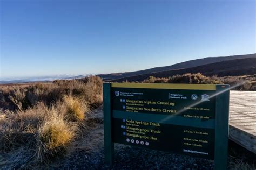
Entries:
{"type": "Polygon", "coordinates": [[[26,147],[44,163],[62,157],[87,129],[90,109],[101,104],[96,76],[1,87],[0,151],[26,147]]]}

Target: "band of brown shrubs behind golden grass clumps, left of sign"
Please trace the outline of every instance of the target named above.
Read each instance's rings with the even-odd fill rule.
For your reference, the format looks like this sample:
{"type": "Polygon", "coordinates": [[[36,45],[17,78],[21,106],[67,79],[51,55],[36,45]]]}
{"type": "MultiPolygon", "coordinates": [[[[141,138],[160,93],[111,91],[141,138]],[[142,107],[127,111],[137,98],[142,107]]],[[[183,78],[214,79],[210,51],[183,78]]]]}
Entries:
{"type": "Polygon", "coordinates": [[[32,83],[29,86],[0,88],[0,108],[22,111],[43,102],[48,107],[61,101],[63,95],[84,98],[92,108],[102,104],[102,79],[89,76],[77,80],[56,80],[52,83],[32,83]]]}

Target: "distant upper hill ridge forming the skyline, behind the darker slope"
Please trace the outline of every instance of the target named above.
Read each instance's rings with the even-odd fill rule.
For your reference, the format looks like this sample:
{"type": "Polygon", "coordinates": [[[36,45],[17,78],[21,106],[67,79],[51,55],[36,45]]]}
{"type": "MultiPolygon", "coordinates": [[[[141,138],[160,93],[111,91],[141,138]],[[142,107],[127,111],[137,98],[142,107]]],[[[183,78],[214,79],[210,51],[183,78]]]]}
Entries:
{"type": "Polygon", "coordinates": [[[149,73],[154,73],[154,72],[163,72],[163,71],[173,70],[173,69],[191,68],[191,67],[197,67],[197,66],[201,66],[201,65],[207,65],[210,63],[220,62],[220,61],[245,59],[245,58],[256,58],[256,53],[255,54],[246,54],[246,55],[207,57],[207,58],[203,58],[203,59],[196,59],[196,60],[180,62],[180,63],[174,64],[171,66],[155,67],[155,68],[150,68],[150,69],[145,69],[145,70],[139,70],[136,72],[99,74],[97,76],[102,77],[103,80],[114,80],[114,79],[122,79],[124,77],[131,77],[131,76],[149,74],[149,73]]]}

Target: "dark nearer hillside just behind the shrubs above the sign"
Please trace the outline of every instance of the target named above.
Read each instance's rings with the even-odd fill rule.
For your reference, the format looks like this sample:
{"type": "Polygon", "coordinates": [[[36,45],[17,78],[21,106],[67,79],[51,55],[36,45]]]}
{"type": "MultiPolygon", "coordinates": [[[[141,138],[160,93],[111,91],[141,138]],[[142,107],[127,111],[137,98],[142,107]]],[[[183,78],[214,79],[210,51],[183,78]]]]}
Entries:
{"type": "Polygon", "coordinates": [[[167,70],[163,72],[154,72],[154,73],[136,75],[131,77],[124,77],[121,79],[114,79],[111,81],[113,82],[122,82],[126,80],[143,81],[147,79],[149,76],[169,77],[177,74],[182,75],[186,73],[199,73],[199,72],[207,76],[218,75],[219,77],[252,75],[252,74],[256,74],[256,58],[227,60],[227,61],[210,63],[203,66],[167,70]]]}

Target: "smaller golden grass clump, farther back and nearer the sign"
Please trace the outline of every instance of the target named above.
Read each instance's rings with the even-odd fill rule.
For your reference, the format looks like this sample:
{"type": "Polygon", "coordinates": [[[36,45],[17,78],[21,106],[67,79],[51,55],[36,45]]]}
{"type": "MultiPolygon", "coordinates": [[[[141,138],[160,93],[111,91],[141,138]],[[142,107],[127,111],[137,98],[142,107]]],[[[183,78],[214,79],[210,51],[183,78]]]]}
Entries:
{"type": "Polygon", "coordinates": [[[69,121],[82,121],[85,118],[85,113],[89,111],[86,102],[72,96],[64,96],[63,99],[66,105],[65,118],[69,121]]]}

